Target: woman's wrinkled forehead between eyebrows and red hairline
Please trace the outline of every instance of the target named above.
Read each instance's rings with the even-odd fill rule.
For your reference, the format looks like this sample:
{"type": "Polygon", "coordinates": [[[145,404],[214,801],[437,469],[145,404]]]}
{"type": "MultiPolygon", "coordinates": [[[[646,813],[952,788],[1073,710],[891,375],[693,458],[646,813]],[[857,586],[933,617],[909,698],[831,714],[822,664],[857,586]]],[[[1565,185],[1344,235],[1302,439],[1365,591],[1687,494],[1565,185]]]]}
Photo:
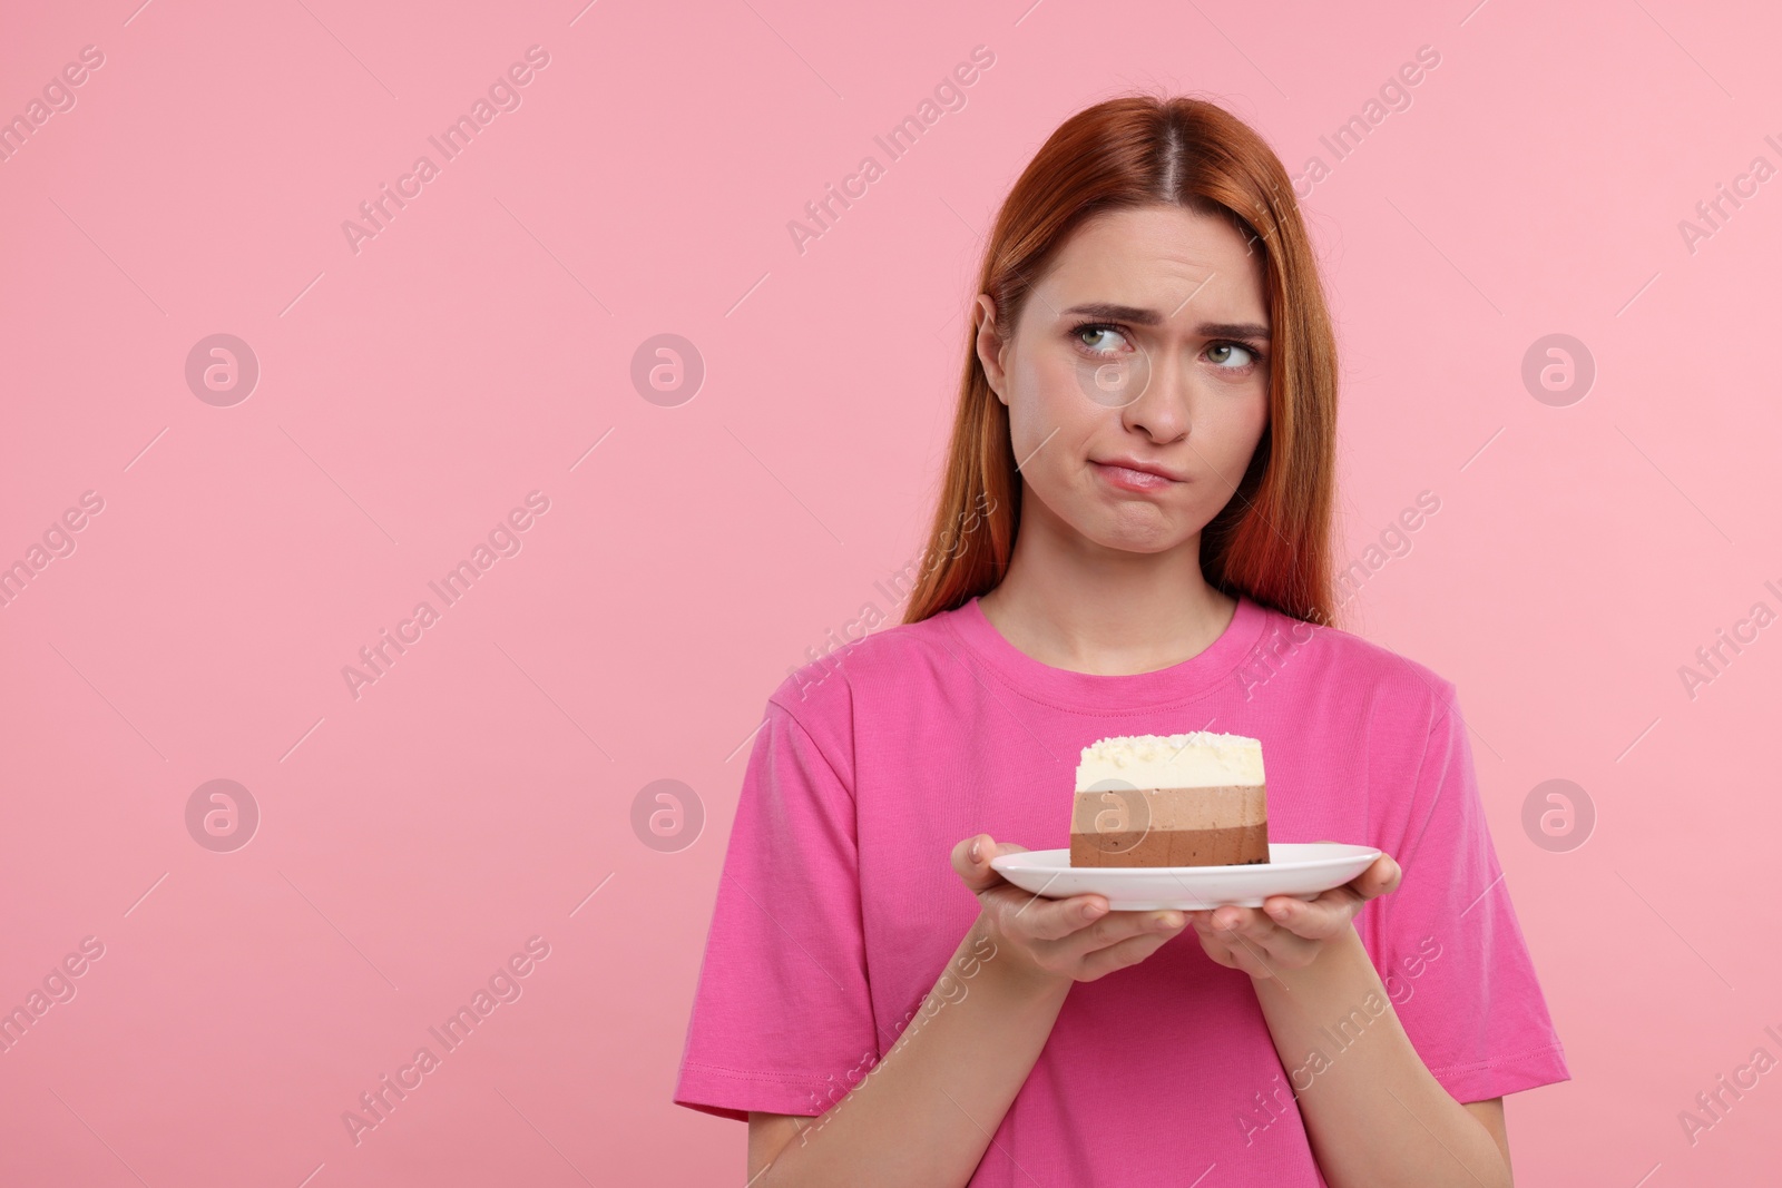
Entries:
{"type": "Polygon", "coordinates": [[[1262,251],[1230,217],[1173,205],[1110,210],[1078,226],[1035,285],[1041,319],[1082,301],[1267,324],[1262,251]]]}

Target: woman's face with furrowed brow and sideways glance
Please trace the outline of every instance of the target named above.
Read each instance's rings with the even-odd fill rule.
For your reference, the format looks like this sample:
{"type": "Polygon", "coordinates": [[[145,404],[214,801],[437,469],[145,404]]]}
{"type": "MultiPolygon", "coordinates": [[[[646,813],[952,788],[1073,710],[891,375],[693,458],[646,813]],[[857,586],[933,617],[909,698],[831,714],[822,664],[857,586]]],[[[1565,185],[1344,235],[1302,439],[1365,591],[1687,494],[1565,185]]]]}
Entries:
{"type": "Polygon", "coordinates": [[[1157,205],[1080,226],[1009,342],[978,296],[977,349],[1009,406],[1023,522],[1050,511],[1098,545],[1162,552],[1224,508],[1269,422],[1262,280],[1231,223],[1157,205]]]}

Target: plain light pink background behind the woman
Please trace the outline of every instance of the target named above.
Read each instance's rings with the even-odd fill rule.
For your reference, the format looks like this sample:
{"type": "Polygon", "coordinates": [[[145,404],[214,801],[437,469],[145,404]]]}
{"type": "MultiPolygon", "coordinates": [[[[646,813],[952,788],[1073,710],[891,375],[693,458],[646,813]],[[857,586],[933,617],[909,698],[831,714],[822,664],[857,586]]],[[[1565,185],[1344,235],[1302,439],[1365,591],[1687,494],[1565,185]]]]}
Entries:
{"type": "Polygon", "coordinates": [[[1319,135],[1424,45],[1411,107],[1304,205],[1345,556],[1442,500],[1349,625],[1458,684],[1574,1070],[1509,1099],[1516,1177],[1770,1167],[1778,1074],[1695,1145],[1679,1122],[1782,1056],[1782,627],[1695,698],[1679,677],[1782,611],[1748,347],[1782,180],[1679,232],[1782,166],[1766,5],[134,5],[0,39],[4,116],[105,57],[0,164],[0,563],[103,499],[0,609],[0,1006],[103,944],[0,1053],[0,1181],[740,1181],[743,1127],[670,1090],[745,745],[807,648],[895,618],[873,582],[921,547],[996,203],[1132,85],[1329,164],[1319,135]],[[349,249],[533,45],[522,105],[349,249]],[[978,45],[966,107],[887,162],[873,135],[978,45]],[[886,176],[800,255],[788,223],[868,153],[886,176]],[[260,363],[226,408],[184,378],[214,333],[260,363]],[[677,406],[631,381],[661,333],[706,365],[677,406]],[[1597,363],[1568,406],[1522,383],[1550,333],[1597,363]],[[527,492],[522,550],[355,698],[342,666],[527,492]],[[185,825],[214,778],[260,809],[230,853],[185,825]],[[661,778],[706,810],[677,851],[633,825],[661,778]],[[1591,798],[1588,844],[1524,830],[1550,778],[1591,798]],[[355,1145],[342,1111],[529,937],[522,996],[355,1145]]]}

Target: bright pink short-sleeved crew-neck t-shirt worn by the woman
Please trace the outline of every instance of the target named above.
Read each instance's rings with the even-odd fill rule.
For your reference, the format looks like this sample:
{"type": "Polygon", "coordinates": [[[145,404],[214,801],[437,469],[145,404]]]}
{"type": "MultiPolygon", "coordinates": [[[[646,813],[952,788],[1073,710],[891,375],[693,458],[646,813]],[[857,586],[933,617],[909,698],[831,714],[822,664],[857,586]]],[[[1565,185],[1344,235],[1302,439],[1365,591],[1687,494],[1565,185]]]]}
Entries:
{"type": "MultiPolygon", "coordinates": [[[[1271,841],[1365,842],[1404,867],[1356,928],[1456,1101],[1570,1079],[1449,680],[1249,598],[1192,659],[1078,673],[1019,652],[973,598],[814,661],[768,698],[674,1101],[823,1113],[891,1049],[977,919],[950,864],[959,839],[1064,848],[1083,746],[1183,730],[1262,741],[1271,841]]],[[[1071,987],[971,1184],[1189,1184],[1210,1167],[1221,1186],[1322,1184],[1292,1085],[1365,1038],[1331,1035],[1283,1063],[1249,974],[1185,930],[1071,987]]]]}

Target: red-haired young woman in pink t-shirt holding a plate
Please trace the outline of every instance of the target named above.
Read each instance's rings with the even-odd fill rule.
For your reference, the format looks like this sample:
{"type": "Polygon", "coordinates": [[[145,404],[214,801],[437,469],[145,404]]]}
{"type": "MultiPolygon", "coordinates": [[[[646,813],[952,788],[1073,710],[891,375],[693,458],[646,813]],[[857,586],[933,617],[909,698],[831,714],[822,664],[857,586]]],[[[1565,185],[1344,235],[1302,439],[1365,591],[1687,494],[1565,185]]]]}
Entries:
{"type": "Polygon", "coordinates": [[[1454,686],[1335,627],[1279,160],[1210,103],[1091,107],[980,290],[905,620],[768,698],[674,1101],[748,1120],[757,1188],[1509,1184],[1504,1094],[1570,1074],[1454,686]],[[1212,912],[991,869],[1067,844],[1089,743],[1206,728],[1262,741],[1272,841],[1383,857],[1212,912]]]}

